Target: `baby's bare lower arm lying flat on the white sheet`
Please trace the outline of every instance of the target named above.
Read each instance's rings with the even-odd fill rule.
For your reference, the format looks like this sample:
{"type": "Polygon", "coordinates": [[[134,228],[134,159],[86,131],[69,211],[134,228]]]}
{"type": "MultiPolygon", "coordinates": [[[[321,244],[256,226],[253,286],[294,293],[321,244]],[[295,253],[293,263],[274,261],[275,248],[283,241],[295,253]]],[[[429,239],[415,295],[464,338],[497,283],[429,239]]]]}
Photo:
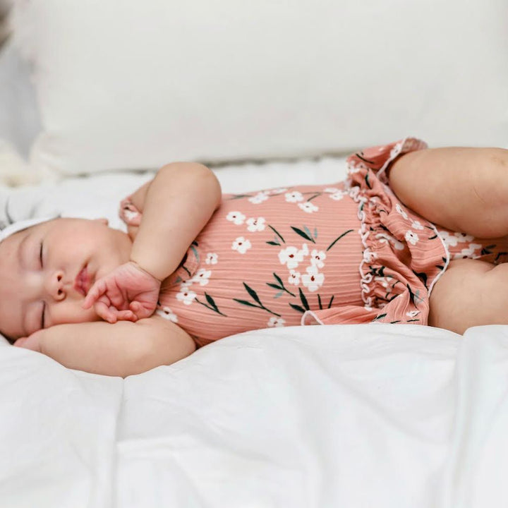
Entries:
{"type": "Polygon", "coordinates": [[[14,345],[40,351],[68,368],[121,377],[169,365],[195,351],[189,334],[157,315],[114,325],[104,321],[55,325],[14,345]]]}

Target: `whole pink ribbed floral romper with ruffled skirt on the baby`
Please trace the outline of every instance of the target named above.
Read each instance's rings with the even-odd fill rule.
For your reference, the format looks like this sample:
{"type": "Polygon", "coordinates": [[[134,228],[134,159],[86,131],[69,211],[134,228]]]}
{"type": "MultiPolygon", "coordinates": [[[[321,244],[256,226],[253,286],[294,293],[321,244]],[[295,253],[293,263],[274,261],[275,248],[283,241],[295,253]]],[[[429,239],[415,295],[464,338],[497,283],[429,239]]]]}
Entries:
{"type": "MultiPolygon", "coordinates": [[[[402,205],[388,186],[389,164],[425,147],[406,138],[351,155],[345,182],[223,195],[162,285],[157,314],[198,346],[274,326],[426,325],[450,259],[501,262],[508,239],[437,229],[402,205]]],[[[140,223],[129,198],[120,215],[140,223]]]]}

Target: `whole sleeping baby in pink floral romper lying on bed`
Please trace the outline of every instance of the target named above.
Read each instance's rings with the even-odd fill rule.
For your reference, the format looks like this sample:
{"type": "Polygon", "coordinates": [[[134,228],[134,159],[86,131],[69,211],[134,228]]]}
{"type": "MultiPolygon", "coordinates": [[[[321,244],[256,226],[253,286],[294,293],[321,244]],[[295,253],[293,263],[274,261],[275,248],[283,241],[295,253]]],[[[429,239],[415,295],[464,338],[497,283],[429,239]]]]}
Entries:
{"type": "Polygon", "coordinates": [[[345,181],[222,195],[175,162],[121,202],[126,232],[7,226],[0,332],[126,377],[251,329],[508,324],[508,150],[406,138],[347,163],[345,181]]]}

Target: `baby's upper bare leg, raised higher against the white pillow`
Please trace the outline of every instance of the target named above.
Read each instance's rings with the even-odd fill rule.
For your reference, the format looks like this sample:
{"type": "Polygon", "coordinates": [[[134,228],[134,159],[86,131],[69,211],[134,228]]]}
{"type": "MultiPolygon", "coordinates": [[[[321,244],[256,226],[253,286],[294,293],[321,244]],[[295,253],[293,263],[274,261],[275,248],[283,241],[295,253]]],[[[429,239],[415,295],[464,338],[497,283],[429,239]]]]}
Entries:
{"type": "Polygon", "coordinates": [[[409,152],[389,171],[407,207],[477,238],[508,235],[508,150],[449,147],[409,152]]]}

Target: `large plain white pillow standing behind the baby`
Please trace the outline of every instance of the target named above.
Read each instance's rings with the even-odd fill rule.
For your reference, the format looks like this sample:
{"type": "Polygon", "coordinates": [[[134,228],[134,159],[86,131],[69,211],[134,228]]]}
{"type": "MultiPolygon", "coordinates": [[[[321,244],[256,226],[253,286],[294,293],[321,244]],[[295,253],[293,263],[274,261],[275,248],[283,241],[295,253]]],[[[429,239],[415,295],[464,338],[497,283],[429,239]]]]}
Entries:
{"type": "Polygon", "coordinates": [[[508,146],[499,0],[16,0],[64,174],[344,152],[416,135],[508,146]]]}

